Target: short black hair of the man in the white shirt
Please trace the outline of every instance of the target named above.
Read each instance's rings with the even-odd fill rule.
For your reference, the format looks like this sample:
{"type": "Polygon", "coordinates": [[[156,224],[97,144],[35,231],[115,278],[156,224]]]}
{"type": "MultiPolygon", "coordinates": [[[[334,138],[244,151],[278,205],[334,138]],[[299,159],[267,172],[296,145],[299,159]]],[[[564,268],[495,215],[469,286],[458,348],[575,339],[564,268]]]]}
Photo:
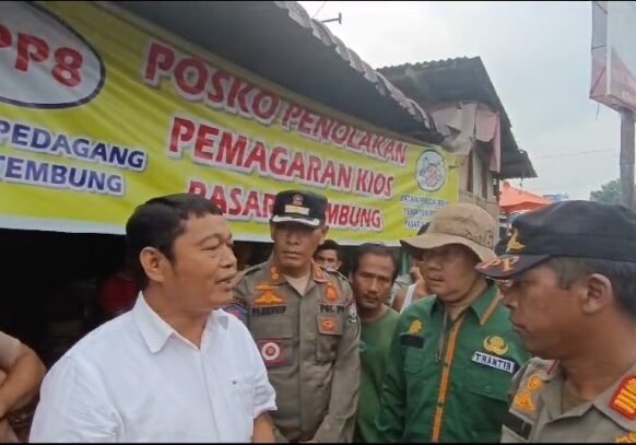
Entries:
{"type": "Polygon", "coordinates": [[[207,214],[223,212],[208,199],[189,194],[152,198],[134,209],[126,223],[126,259],[139,289],[145,290],[149,281],[139,258],[141,251],[154,247],[172,261],[174,243],[184,233],[185,222],[207,214]]]}

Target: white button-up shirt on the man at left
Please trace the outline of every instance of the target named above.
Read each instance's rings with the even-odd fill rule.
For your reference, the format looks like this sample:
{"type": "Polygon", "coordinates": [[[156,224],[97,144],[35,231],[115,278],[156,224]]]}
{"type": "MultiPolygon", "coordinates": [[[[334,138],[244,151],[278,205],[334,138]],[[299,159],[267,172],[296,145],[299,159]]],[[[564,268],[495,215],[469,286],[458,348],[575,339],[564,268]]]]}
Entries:
{"type": "Polygon", "coordinates": [[[46,375],[30,442],[250,442],[275,409],[243,323],[214,311],[197,349],[140,294],[46,375]]]}

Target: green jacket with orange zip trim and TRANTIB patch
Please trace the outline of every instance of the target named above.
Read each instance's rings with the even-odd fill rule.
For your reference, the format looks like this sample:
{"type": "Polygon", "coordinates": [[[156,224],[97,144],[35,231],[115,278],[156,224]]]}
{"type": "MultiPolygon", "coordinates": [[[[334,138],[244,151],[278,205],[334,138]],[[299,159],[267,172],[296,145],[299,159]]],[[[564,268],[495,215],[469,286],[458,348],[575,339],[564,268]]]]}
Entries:
{"type": "Polygon", "coordinates": [[[435,297],[400,316],[376,419],[385,442],[498,442],[513,375],[529,359],[492,284],[451,323],[435,297]]]}

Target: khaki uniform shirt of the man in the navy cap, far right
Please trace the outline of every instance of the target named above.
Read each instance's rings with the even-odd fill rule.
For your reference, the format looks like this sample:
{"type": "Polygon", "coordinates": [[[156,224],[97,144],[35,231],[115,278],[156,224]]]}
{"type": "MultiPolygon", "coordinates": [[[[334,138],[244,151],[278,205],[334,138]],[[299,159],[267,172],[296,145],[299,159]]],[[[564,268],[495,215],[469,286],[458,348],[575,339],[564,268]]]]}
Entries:
{"type": "Polygon", "coordinates": [[[502,442],[636,442],[636,364],[593,401],[562,412],[565,376],[532,359],[513,380],[502,442]]]}

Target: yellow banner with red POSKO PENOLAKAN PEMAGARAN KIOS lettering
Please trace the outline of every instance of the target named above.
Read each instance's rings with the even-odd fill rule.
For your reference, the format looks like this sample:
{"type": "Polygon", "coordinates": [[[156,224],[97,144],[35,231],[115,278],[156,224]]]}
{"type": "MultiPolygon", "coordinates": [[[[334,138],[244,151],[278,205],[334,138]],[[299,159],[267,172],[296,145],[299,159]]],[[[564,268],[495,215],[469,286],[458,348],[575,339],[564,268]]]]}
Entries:
{"type": "Polygon", "coordinates": [[[328,196],[330,237],[394,245],[457,201],[455,163],[110,3],[0,2],[3,227],[120,234],[188,191],[269,241],[274,195],[299,188],[328,196]]]}

